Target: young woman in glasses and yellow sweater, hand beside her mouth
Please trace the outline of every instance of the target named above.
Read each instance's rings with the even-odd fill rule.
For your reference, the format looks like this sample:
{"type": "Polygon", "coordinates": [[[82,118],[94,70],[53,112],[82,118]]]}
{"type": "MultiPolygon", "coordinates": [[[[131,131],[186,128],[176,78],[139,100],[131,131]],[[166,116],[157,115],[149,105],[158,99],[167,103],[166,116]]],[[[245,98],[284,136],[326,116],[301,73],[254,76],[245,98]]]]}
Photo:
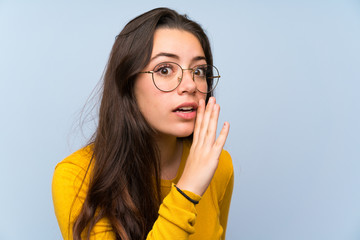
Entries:
{"type": "Polygon", "coordinates": [[[202,28],[158,8],[117,36],[88,146],[53,178],[64,239],[224,239],[233,189],[202,28]]]}

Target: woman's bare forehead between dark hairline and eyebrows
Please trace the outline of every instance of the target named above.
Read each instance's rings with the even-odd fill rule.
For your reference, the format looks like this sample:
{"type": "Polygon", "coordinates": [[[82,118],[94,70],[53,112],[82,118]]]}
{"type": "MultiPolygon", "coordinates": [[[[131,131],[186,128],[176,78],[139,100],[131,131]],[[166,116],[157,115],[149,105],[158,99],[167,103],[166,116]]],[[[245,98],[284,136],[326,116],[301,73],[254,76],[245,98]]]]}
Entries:
{"type": "Polygon", "coordinates": [[[179,58],[205,56],[198,38],[179,29],[160,28],[155,31],[151,57],[162,52],[177,55],[179,58]]]}

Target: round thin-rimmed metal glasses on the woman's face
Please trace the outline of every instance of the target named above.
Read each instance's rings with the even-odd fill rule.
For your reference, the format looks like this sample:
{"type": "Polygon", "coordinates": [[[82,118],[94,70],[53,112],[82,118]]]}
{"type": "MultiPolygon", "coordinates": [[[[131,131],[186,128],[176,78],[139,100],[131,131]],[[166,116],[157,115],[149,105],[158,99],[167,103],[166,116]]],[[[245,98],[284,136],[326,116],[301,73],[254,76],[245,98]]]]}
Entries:
{"type": "Polygon", "coordinates": [[[162,62],[156,65],[152,71],[140,73],[151,73],[153,83],[157,89],[163,92],[171,92],[180,85],[185,70],[191,71],[196,89],[201,93],[206,94],[214,91],[219,82],[218,69],[208,64],[184,69],[174,62],[162,62]]]}

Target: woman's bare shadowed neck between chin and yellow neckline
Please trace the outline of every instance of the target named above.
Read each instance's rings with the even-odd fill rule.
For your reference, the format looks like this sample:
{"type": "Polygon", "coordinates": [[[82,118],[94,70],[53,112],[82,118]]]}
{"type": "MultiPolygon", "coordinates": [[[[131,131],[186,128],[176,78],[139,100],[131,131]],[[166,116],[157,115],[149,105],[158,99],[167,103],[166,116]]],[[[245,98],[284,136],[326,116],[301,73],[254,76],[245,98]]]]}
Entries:
{"type": "Polygon", "coordinates": [[[160,151],[161,178],[176,177],[182,155],[181,141],[174,136],[157,136],[156,144],[160,151]]]}

